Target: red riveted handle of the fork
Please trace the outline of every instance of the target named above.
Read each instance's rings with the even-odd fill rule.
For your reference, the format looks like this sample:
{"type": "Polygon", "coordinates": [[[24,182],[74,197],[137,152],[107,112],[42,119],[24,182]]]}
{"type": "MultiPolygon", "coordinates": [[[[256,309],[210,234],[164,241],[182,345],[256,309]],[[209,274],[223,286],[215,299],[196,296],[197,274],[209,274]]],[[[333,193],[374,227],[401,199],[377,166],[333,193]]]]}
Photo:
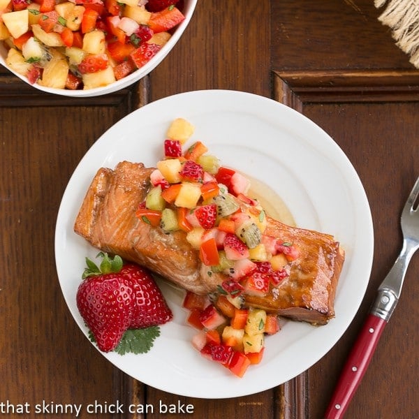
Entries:
{"type": "Polygon", "coordinates": [[[328,410],[325,413],[325,419],[339,419],[344,417],[349,402],[351,402],[362,377],[367,371],[369,362],[386,324],[387,322],[382,318],[374,316],[374,314],[368,315],[341,372],[337,387],[330,400],[328,410]]]}

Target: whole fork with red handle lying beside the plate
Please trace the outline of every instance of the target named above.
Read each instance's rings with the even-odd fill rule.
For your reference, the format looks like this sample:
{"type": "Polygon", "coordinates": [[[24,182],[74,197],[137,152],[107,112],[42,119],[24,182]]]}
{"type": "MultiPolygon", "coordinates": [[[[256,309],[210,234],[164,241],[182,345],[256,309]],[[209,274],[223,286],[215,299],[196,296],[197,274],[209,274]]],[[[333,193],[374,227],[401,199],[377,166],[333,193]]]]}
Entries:
{"type": "Polygon", "coordinates": [[[384,281],[378,287],[374,304],[362,326],[355,345],[341,372],[337,387],[332,395],[325,413],[325,419],[343,418],[348,404],[351,402],[358,385],[362,380],[372,355],[384,330],[395,310],[402,291],[406,270],[413,256],[419,248],[419,178],[404,205],[401,226],[403,233],[403,247],[395,264],[388,272],[384,281]]]}

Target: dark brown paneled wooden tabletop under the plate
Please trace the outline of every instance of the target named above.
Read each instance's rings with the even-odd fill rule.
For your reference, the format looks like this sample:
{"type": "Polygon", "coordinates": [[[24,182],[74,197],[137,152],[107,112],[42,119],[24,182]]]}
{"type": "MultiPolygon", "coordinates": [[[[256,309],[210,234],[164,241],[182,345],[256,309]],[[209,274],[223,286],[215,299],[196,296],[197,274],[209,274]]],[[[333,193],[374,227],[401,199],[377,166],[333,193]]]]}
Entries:
{"type": "MultiPolygon", "coordinates": [[[[322,418],[376,288],[399,252],[399,214],[419,175],[419,71],[378,22],[372,3],[200,0],[184,37],[149,77],[99,98],[40,94],[0,69],[0,416],[7,403],[26,404],[28,418],[70,418],[37,414],[35,405],[85,408],[97,401],[112,410],[117,403],[161,401],[193,405],[194,413],[172,415],[179,418],[322,418]],[[238,399],[166,394],[112,367],[73,321],[54,265],[61,196],[91,144],[135,108],[196,89],[249,91],[313,119],[351,159],[374,221],[371,279],[344,336],[307,372],[238,399]]],[[[418,277],[416,256],[346,418],[419,417],[418,277]]]]}

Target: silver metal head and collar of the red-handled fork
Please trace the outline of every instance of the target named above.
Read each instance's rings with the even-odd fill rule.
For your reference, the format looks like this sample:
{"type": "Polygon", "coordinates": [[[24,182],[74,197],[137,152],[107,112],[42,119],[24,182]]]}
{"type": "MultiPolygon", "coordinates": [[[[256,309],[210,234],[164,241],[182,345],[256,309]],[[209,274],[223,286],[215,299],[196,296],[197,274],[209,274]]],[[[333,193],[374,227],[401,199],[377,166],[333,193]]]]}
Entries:
{"type": "Polygon", "coordinates": [[[415,186],[406,200],[401,217],[403,233],[403,247],[395,264],[388,272],[384,281],[378,288],[378,296],[371,309],[372,314],[383,318],[385,321],[390,319],[402,291],[404,277],[413,253],[419,248],[419,177],[415,186]]]}

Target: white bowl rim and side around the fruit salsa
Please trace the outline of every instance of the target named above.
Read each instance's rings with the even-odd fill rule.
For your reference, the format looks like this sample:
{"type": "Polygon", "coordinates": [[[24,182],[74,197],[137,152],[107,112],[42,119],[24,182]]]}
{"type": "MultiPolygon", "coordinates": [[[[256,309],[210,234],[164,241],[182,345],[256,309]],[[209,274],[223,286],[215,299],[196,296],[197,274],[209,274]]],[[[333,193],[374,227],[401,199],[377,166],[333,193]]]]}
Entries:
{"type": "Polygon", "coordinates": [[[54,89],[52,87],[43,87],[41,84],[29,83],[28,79],[21,74],[16,73],[11,68],[8,68],[6,65],[6,57],[7,57],[7,49],[5,45],[3,45],[3,42],[0,42],[0,64],[8,69],[11,73],[15,74],[18,78],[22,79],[24,82],[27,82],[27,84],[30,84],[31,86],[35,87],[38,90],[46,91],[47,93],[52,94],[61,94],[62,96],[73,96],[78,98],[85,98],[90,96],[101,96],[103,94],[109,94],[114,91],[118,91],[120,89],[124,89],[125,87],[130,86],[131,84],[138,82],[141,78],[143,78],[145,75],[150,73],[156,66],[158,66],[161,61],[166,57],[166,55],[172,50],[172,48],[176,45],[177,41],[179,41],[179,38],[184,33],[184,30],[189,24],[189,21],[191,20],[191,17],[193,15],[193,12],[196,8],[196,2],[197,0],[185,0],[184,1],[184,7],[182,9],[182,13],[185,16],[185,19],[183,22],[179,24],[179,26],[176,27],[175,31],[173,31],[173,34],[169,41],[163,45],[161,50],[157,52],[157,54],[150,59],[150,61],[147,62],[144,66],[141,68],[138,68],[138,70],[134,71],[133,73],[127,75],[126,77],[122,78],[121,80],[117,80],[116,82],[113,82],[111,84],[108,84],[108,86],[104,87],[95,87],[94,89],[86,89],[86,90],[68,90],[68,89],[54,89]]]}

